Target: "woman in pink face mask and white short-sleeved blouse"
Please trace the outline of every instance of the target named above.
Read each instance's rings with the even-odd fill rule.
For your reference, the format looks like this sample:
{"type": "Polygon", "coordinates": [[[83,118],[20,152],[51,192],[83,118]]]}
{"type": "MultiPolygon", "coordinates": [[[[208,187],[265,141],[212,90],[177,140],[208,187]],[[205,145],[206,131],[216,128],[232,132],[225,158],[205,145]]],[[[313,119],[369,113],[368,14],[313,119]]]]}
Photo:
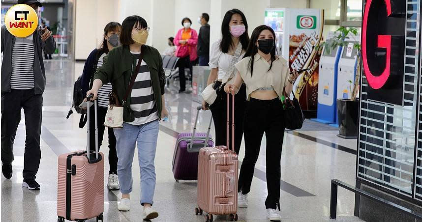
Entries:
{"type": "MultiPolygon", "coordinates": [[[[227,95],[224,92],[224,85],[232,83],[238,72],[234,65],[243,58],[246,52],[249,44],[247,27],[246,18],[239,9],[227,11],[221,25],[222,38],[211,46],[209,63],[211,74],[207,85],[213,84],[213,88],[217,91],[217,98],[212,104],[207,104],[204,101],[202,107],[204,110],[211,109],[216,145],[226,145],[227,143],[227,95]]],[[[246,107],[246,86],[244,84],[235,96],[235,103],[235,151],[239,154],[243,136],[243,114],[246,107]]],[[[230,102],[230,106],[231,104],[230,102]]]]}

